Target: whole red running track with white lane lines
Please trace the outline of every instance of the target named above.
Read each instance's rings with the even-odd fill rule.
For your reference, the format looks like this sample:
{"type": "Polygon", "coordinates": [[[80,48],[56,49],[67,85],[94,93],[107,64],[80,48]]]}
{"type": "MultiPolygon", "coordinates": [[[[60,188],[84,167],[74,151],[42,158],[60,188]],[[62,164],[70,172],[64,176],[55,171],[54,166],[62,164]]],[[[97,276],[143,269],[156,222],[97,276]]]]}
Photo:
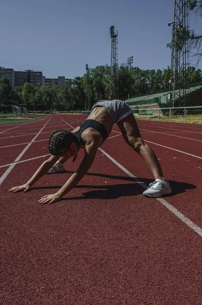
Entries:
{"type": "Polygon", "coordinates": [[[28,193],[8,193],[47,158],[53,131],[85,118],[48,115],[0,126],[0,303],[201,305],[201,125],[138,121],[172,187],[163,199],[142,195],[152,174],[117,126],[60,202],[37,204],[77,169],[82,151],[65,173],[43,176],[28,193]]]}

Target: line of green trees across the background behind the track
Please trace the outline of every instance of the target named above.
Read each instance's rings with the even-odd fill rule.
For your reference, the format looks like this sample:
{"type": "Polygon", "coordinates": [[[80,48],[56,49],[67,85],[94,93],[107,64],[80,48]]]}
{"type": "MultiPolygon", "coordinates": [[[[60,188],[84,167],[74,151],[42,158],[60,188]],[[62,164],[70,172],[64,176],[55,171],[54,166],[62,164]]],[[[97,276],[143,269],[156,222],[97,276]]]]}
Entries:
{"type": "MultiPolygon", "coordinates": [[[[202,71],[195,67],[188,68],[189,83],[202,80],[202,71]]],[[[128,97],[148,94],[169,87],[171,70],[141,70],[122,64],[119,68],[119,99],[125,101],[128,97]]],[[[98,100],[109,99],[110,67],[97,66],[90,69],[91,104],[98,100]]],[[[64,87],[42,86],[35,87],[30,83],[17,86],[15,90],[10,86],[9,79],[0,79],[1,110],[10,105],[21,105],[28,110],[84,110],[86,101],[86,74],[83,77],[69,79],[64,87]]]]}

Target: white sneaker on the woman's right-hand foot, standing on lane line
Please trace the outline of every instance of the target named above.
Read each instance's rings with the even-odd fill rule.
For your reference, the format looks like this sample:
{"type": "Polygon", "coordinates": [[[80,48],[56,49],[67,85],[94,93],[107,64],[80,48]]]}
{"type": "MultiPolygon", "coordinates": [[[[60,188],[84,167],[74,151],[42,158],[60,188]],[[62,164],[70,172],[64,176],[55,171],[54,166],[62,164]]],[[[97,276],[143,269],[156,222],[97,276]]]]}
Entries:
{"type": "Polygon", "coordinates": [[[165,182],[163,181],[154,181],[149,185],[149,188],[143,192],[143,195],[147,196],[147,197],[161,197],[163,195],[167,195],[170,194],[171,188],[169,186],[168,181],[165,180],[165,182]]]}

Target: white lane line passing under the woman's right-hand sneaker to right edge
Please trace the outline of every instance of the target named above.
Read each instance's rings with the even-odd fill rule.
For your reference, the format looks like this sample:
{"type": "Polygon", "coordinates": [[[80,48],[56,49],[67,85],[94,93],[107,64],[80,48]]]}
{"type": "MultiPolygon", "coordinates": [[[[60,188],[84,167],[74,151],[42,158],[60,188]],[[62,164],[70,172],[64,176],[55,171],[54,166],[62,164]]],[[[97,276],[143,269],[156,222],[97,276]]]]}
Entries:
{"type": "MultiPolygon", "coordinates": [[[[131,172],[129,172],[125,167],[123,167],[119,162],[114,160],[110,155],[108,155],[103,149],[98,148],[102,153],[109,158],[114,164],[116,164],[121,170],[123,170],[128,176],[133,178],[143,189],[147,189],[148,186],[141,182],[136,176],[134,176],[131,172]]],[[[163,204],[169,211],[172,212],[175,216],[177,216],[181,221],[183,221],[189,228],[194,230],[199,236],[202,237],[202,229],[198,227],[196,224],[194,224],[189,218],[187,218],[184,214],[182,214],[177,208],[172,206],[170,203],[168,203],[165,199],[163,198],[155,198],[158,200],[161,204],[163,204]]]]}

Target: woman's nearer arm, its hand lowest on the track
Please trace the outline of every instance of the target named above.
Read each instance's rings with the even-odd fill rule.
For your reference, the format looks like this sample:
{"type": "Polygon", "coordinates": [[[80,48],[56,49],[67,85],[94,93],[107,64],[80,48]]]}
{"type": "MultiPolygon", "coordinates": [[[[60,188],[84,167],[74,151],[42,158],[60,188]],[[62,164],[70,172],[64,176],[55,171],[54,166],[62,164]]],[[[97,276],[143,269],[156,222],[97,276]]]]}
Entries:
{"type": "Polygon", "coordinates": [[[66,184],[59,191],[57,191],[55,194],[42,197],[38,202],[53,203],[57,200],[60,200],[65,194],[70,192],[90,169],[94,162],[97,149],[97,145],[94,143],[85,145],[85,155],[80,163],[78,170],[67,180],[66,184]]]}

